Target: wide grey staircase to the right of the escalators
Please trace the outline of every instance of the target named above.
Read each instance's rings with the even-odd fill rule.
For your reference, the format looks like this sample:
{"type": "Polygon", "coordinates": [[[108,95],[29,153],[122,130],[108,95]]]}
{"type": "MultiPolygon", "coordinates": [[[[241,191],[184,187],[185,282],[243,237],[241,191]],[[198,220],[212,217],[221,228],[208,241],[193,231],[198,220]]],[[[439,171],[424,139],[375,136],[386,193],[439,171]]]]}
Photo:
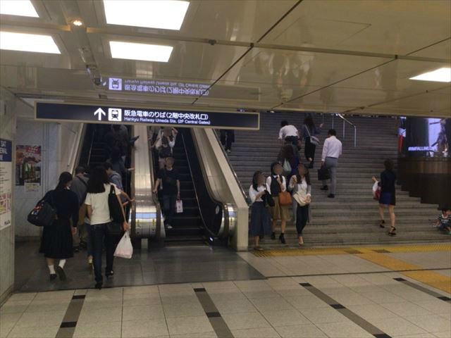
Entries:
{"type": "MultiPolygon", "coordinates": [[[[316,147],[314,169],[310,170],[312,181],[311,220],[304,229],[304,242],[309,246],[392,244],[414,242],[443,242],[450,237],[432,227],[438,215],[436,206],[421,204],[419,198],[409,197],[397,187],[395,208],[397,236],[386,234],[388,229],[378,227],[377,201],[372,199],[371,176],[379,176],[386,158],[397,158],[396,120],[394,118],[350,117],[357,126],[357,147],[354,148],[354,132],[346,125],[342,137],[342,120],[334,118],[338,139],[343,144],[343,154],[338,161],[338,184],[335,199],[328,199],[328,192],[319,188],[316,170],[321,164],[322,143],[327,130],[332,127],[332,115],[314,115],[316,125],[324,123],[319,136],[321,145],[316,147]]],[[[236,131],[235,144],[229,154],[230,162],[237,173],[242,187],[248,192],[255,170],[270,173],[271,162],[276,161],[280,142],[278,130],[280,120],[300,128],[304,113],[261,113],[261,130],[236,131]]],[[[304,158],[304,144],[300,151],[304,158]]],[[[290,211],[290,214],[291,211],[290,211]]],[[[385,222],[389,223],[388,213],[385,222]]],[[[280,233],[278,227],[277,234],[280,233]]],[[[289,246],[297,246],[297,234],[292,221],[287,224],[285,239],[289,246]]],[[[249,243],[250,244],[250,243],[249,243]]],[[[278,241],[268,237],[265,247],[279,247],[278,241]]]]}

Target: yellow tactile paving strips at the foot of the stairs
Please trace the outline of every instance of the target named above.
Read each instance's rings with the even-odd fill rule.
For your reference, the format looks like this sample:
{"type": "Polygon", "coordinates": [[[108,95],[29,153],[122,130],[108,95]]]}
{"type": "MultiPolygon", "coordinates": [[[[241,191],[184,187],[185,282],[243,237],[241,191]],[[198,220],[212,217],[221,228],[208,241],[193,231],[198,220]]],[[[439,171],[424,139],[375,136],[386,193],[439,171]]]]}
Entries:
{"type": "Polygon", "coordinates": [[[376,263],[394,271],[402,270],[421,270],[404,271],[401,274],[417,280],[431,287],[440,289],[451,294],[451,277],[435,273],[431,270],[422,270],[424,267],[407,263],[401,259],[394,258],[384,253],[394,252],[427,252],[427,251],[450,251],[451,243],[437,244],[412,244],[412,245],[385,245],[385,246],[350,246],[340,248],[299,248],[299,249],[268,249],[265,251],[254,251],[258,257],[276,257],[276,256],[303,256],[303,255],[342,255],[353,254],[366,261],[376,263]],[[379,252],[377,252],[379,251],[379,252]]]}

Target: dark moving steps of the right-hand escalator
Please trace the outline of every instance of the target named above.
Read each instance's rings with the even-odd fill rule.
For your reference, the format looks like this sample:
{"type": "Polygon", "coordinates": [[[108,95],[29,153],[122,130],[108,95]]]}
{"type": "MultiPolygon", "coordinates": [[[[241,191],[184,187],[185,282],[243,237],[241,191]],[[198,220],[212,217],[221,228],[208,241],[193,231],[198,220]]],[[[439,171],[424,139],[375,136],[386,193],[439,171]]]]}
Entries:
{"type": "Polygon", "coordinates": [[[180,176],[180,199],[183,201],[183,213],[175,213],[173,229],[166,230],[166,245],[204,245],[204,230],[199,213],[196,192],[187,161],[187,154],[183,144],[184,129],[180,128],[175,141],[173,155],[174,168],[180,176]]]}

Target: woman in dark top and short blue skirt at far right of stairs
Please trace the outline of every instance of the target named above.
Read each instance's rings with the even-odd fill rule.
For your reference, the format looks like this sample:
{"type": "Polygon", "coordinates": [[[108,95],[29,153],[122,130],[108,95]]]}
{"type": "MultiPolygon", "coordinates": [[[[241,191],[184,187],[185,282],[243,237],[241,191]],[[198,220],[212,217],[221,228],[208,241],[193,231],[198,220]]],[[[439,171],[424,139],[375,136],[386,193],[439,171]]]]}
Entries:
{"type": "Polygon", "coordinates": [[[388,207],[388,212],[390,213],[390,231],[388,234],[390,236],[395,236],[395,205],[396,205],[396,174],[393,171],[393,161],[385,160],[383,165],[385,170],[381,173],[381,181],[379,186],[381,187],[381,196],[379,197],[379,215],[381,215],[380,227],[385,227],[385,220],[383,215],[384,206],[388,207]]]}

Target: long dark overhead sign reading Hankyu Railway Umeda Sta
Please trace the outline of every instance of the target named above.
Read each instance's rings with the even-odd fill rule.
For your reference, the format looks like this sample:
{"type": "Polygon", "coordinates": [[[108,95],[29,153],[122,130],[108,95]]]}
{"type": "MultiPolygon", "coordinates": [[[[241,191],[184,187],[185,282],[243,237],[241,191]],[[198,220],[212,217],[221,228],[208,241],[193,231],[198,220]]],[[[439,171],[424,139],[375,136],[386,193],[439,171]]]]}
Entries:
{"type": "Polygon", "coordinates": [[[259,113],[181,111],[127,106],[62,104],[59,102],[37,102],[35,118],[36,120],[68,120],[84,123],[174,125],[217,129],[259,130],[260,127],[259,113]]]}

